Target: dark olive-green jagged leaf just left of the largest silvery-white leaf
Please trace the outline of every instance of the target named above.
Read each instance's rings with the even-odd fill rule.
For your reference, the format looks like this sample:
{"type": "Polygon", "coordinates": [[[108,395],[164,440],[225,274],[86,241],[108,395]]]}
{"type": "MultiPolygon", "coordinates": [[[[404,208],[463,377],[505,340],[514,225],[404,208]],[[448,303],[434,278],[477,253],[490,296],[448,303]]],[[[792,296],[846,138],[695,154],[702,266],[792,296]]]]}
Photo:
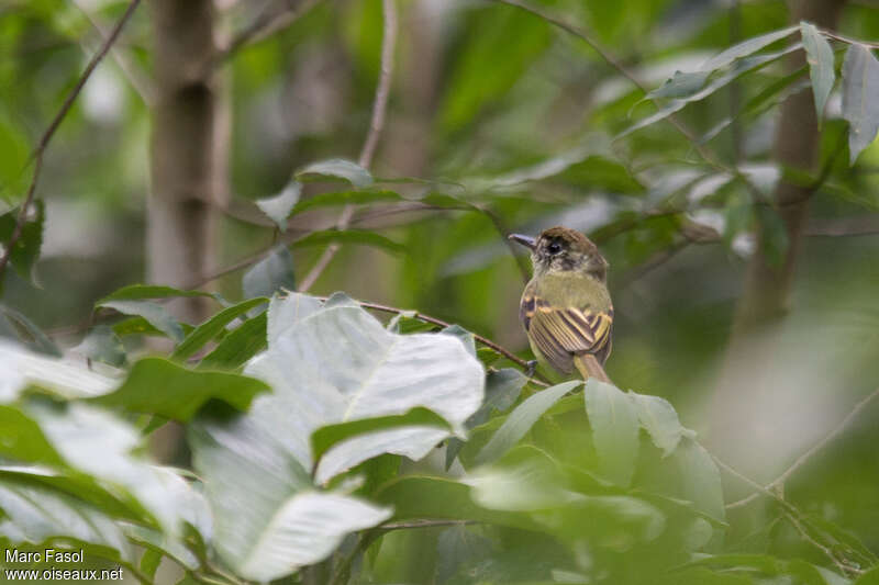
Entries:
{"type": "Polygon", "coordinates": [[[116,391],[92,402],[186,423],[210,400],[246,410],[254,396],[267,390],[265,383],[244,375],[193,371],[163,358],[144,358],[116,391]]]}

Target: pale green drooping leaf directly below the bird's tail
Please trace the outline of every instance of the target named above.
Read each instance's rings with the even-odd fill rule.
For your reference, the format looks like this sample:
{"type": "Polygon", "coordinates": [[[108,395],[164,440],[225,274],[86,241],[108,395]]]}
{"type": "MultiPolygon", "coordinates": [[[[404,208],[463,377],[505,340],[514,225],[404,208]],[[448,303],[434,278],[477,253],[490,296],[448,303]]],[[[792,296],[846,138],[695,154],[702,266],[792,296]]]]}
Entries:
{"type": "Polygon", "coordinates": [[[638,414],[616,386],[590,378],[585,390],[586,412],[601,472],[624,487],[632,482],[638,457],[638,414]]]}

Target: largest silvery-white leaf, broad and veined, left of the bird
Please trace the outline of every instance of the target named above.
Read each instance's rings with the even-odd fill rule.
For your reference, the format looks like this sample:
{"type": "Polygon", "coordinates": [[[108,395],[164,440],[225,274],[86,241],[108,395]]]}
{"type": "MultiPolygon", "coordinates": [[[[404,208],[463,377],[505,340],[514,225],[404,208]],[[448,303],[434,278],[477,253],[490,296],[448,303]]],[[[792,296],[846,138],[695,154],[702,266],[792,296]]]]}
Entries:
{"type": "Polygon", "coordinates": [[[421,406],[464,432],[481,403],[483,374],[460,341],[392,334],[349,300],[331,302],[287,327],[246,370],[275,390],[254,404],[253,415],[283,429],[303,466],[313,463],[311,434],[325,425],[421,406]]]}

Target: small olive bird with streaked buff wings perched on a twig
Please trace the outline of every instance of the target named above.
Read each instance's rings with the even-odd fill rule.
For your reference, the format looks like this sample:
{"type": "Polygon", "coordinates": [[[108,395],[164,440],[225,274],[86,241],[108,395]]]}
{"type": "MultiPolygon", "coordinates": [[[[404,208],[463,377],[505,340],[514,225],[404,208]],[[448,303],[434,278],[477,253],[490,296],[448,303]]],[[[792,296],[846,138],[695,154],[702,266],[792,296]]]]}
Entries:
{"type": "Polygon", "coordinates": [[[534,277],[525,285],[519,316],[541,362],[563,374],[576,368],[583,380],[610,382],[604,361],[611,353],[613,304],[608,261],[586,236],[550,227],[537,238],[513,234],[531,249],[534,277]]]}

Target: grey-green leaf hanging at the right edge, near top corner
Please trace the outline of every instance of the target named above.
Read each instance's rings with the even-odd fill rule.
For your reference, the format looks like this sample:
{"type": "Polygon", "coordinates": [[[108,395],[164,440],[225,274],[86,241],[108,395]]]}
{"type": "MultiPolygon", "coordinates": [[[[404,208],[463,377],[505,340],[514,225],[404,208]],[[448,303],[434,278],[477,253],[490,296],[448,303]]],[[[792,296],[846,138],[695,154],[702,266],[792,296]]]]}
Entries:
{"type": "Polygon", "coordinates": [[[879,61],[857,43],[848,47],[843,63],[843,117],[848,122],[849,164],[879,131],[879,61]]]}

